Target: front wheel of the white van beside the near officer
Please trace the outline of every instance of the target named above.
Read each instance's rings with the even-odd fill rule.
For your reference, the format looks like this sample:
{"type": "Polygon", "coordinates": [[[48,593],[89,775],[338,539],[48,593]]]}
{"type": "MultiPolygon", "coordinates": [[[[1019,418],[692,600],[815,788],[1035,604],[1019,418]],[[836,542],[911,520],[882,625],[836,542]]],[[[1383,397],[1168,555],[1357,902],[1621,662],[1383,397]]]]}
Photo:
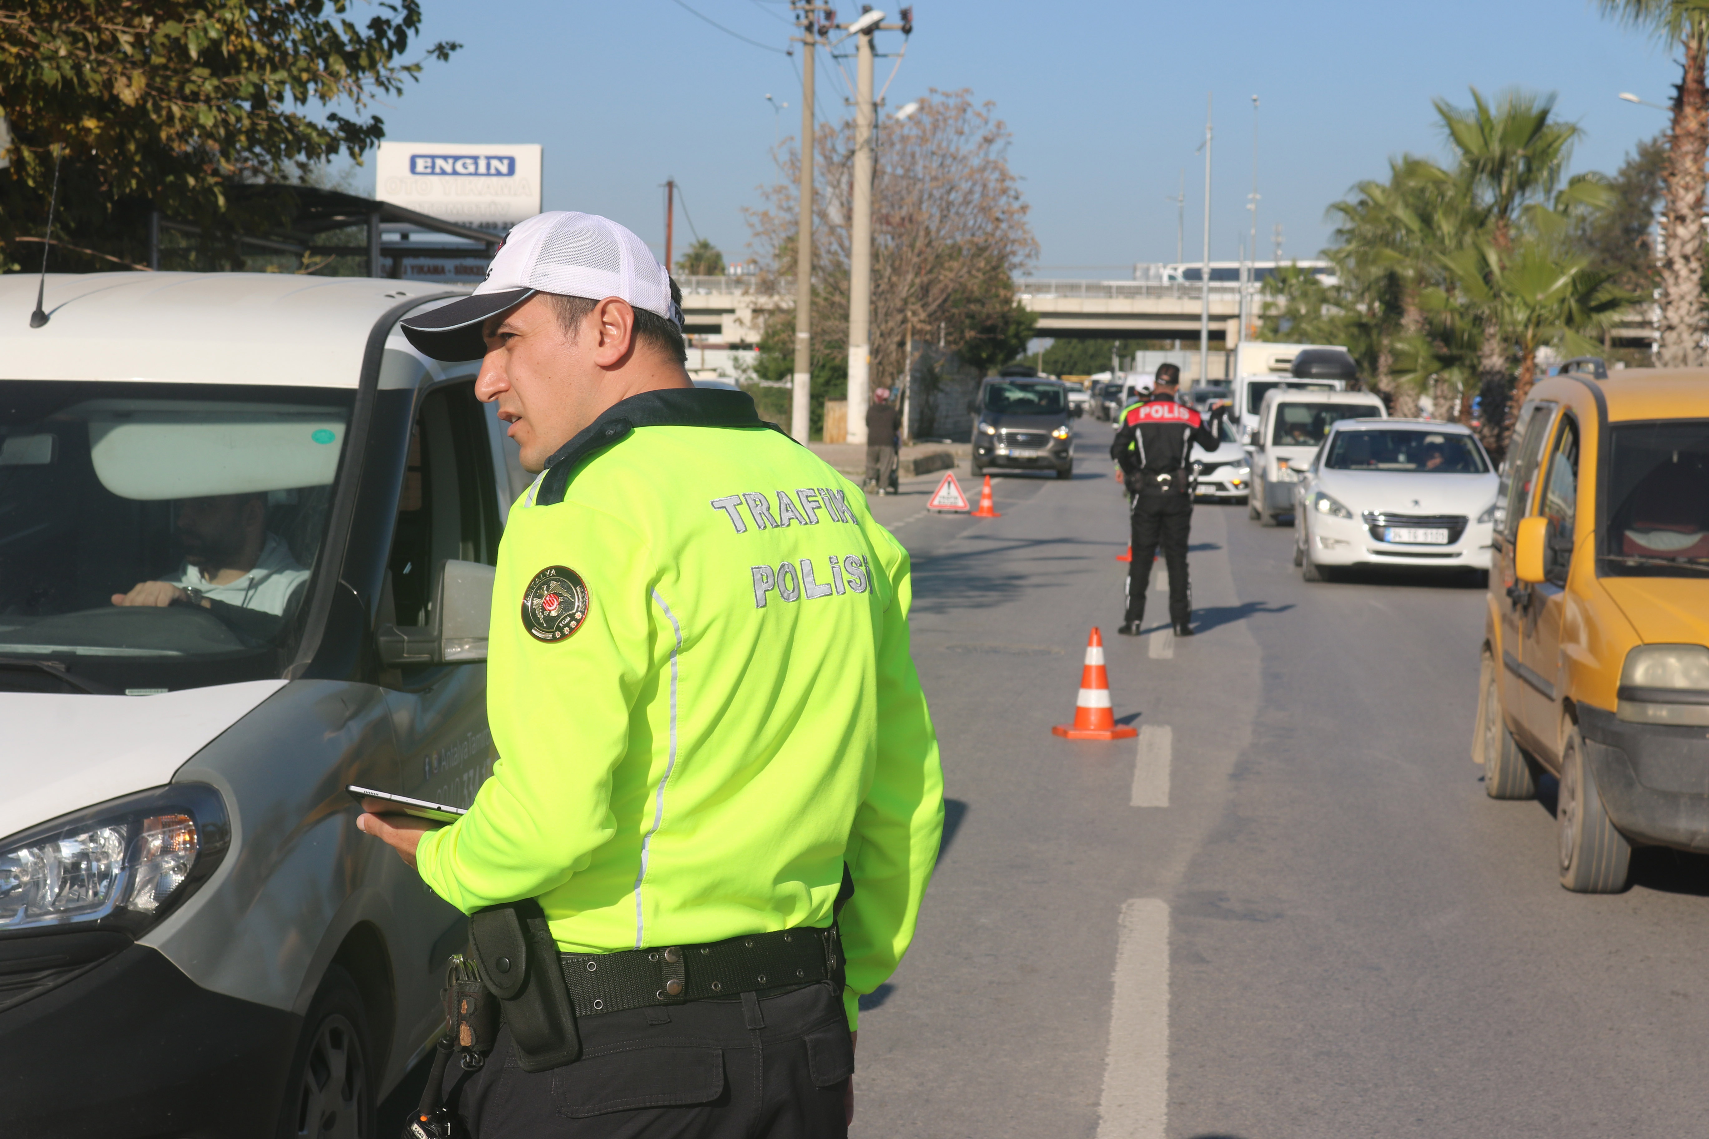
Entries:
{"type": "Polygon", "coordinates": [[[280,1139],[297,1136],[367,1139],[374,1134],[374,1072],[367,1014],[355,980],[337,965],[302,1019],[302,1037],[285,1079],[280,1139]]]}

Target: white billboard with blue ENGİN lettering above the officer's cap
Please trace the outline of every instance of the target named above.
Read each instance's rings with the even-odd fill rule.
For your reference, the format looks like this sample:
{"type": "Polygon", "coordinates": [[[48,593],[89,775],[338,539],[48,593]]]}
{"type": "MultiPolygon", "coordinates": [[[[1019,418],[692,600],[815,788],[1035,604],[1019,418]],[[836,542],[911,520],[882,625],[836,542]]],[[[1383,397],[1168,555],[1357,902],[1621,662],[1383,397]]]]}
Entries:
{"type": "Polygon", "coordinates": [[[540,143],[383,142],[374,196],[502,232],[540,212],[540,143]]]}

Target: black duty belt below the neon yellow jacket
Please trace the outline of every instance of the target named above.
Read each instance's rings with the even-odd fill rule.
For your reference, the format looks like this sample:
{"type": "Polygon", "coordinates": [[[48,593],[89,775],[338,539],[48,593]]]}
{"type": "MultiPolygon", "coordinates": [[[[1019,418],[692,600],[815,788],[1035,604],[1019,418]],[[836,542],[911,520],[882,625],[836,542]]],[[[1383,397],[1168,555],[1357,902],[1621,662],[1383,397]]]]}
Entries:
{"type": "Polygon", "coordinates": [[[697,946],[559,953],[576,1016],[843,980],[837,927],[812,926],[697,946]]]}

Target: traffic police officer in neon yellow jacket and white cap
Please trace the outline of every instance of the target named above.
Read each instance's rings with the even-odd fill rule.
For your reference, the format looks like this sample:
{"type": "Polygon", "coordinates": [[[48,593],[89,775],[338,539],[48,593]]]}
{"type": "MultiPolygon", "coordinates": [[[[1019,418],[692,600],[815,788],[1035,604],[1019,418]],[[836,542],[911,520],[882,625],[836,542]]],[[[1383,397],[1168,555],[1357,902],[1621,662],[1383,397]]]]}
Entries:
{"type": "Polygon", "coordinates": [[[554,212],[403,326],[482,359],[542,471],[499,550],[492,777],[443,830],[361,818],[475,914],[504,1028],[444,1081],[475,1136],[846,1134],[856,999],[938,852],[907,552],[747,394],[689,383],[677,295],[632,232],[554,212]],[[501,955],[482,920],[506,907],[501,955]],[[567,989],[567,1043],[540,1043],[525,984],[567,989]]]}

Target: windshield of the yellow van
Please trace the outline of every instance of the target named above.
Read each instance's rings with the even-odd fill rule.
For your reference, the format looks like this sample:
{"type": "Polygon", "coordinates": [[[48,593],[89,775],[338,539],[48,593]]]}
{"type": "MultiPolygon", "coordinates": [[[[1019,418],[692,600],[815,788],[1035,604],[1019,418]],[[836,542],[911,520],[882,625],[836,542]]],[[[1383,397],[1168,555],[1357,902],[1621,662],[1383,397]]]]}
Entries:
{"type": "Polygon", "coordinates": [[[1709,420],[1617,423],[1601,572],[1709,574],[1709,420]]]}

